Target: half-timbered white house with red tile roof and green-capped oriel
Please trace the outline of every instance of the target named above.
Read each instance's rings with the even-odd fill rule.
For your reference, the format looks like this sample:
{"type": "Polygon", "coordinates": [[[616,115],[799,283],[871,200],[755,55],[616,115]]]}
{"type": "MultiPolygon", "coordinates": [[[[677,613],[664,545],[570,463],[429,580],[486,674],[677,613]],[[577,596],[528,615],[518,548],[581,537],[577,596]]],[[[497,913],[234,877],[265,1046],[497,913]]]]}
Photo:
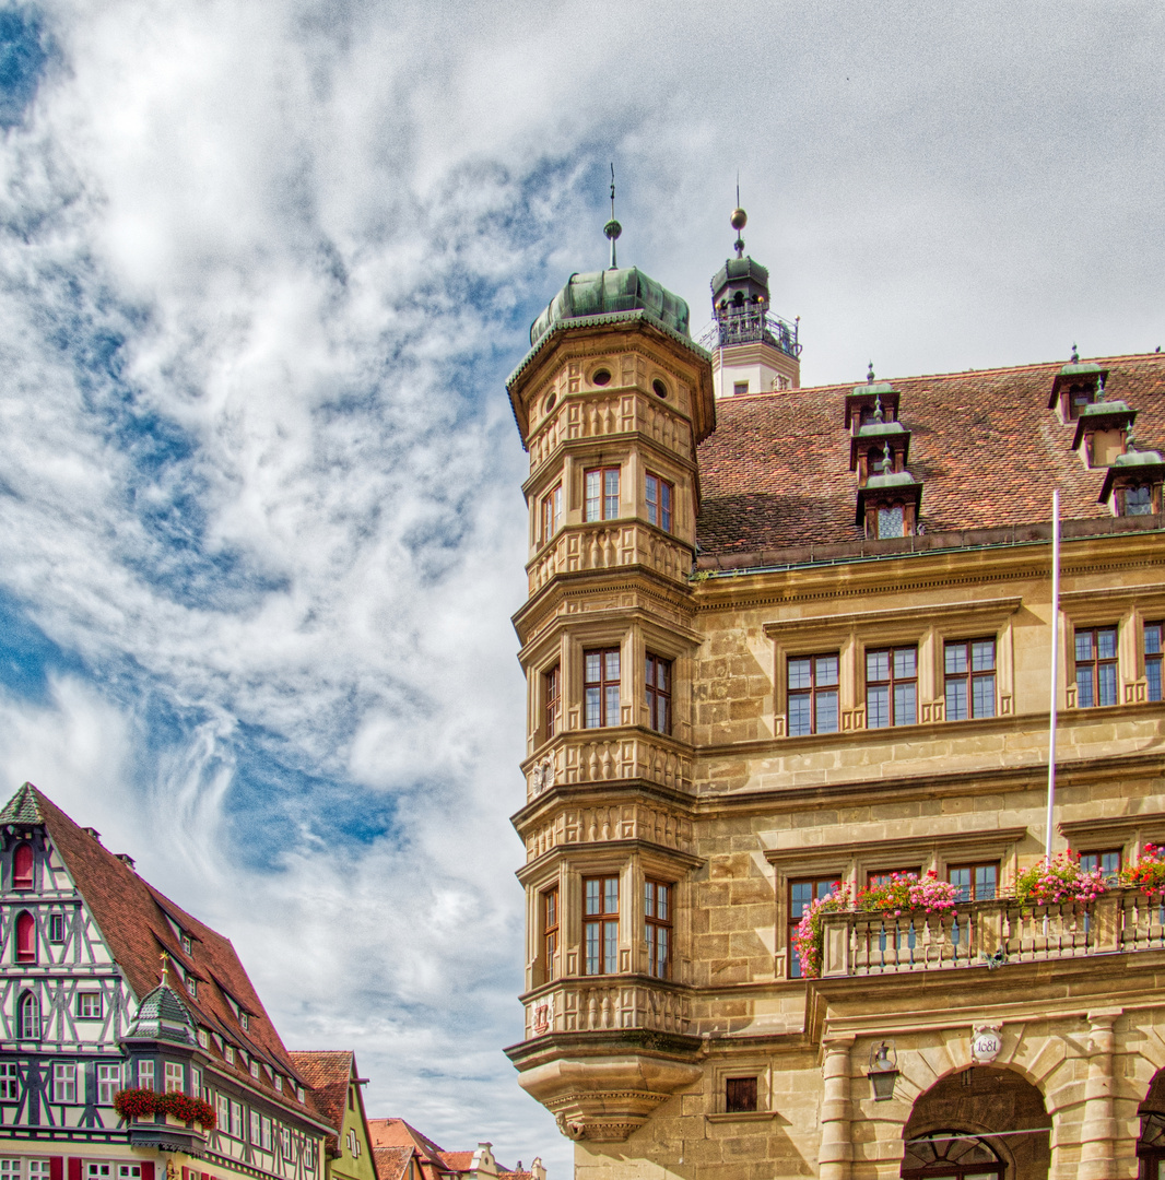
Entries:
{"type": "Polygon", "coordinates": [[[332,1128],[230,940],[31,784],[0,939],[0,1180],[323,1180],[332,1128]]]}

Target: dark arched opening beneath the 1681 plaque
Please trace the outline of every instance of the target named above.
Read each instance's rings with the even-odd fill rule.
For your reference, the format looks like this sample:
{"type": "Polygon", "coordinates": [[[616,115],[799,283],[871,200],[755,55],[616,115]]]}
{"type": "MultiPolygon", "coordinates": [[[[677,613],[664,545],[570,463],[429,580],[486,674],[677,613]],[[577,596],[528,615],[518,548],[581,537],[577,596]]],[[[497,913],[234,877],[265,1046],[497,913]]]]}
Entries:
{"type": "MultiPolygon", "coordinates": [[[[1052,1119],[1040,1092],[1010,1069],[973,1066],[915,1100],[902,1129],[908,1180],[1047,1180],[1052,1119]]],[[[1165,1178],[1163,1178],[1165,1180],[1165,1178]]]]}

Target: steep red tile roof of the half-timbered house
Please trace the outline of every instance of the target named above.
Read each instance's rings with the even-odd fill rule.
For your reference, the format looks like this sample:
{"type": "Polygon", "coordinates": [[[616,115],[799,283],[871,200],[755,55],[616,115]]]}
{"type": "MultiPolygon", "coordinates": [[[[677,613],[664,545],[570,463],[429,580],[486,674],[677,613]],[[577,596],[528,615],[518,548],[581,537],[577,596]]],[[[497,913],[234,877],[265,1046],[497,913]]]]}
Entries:
{"type": "MultiPolygon", "coordinates": [[[[263,1008],[229,938],[204,925],[182,906],[176,905],[152,885],[144,881],[124,861],[109,852],[87,831],[78,827],[47,795],[32,784],[25,784],[4,808],[19,814],[21,822],[38,814],[80,891],[118,966],[137,999],[158,984],[161,958],[165,952],[189,974],[198,977],[197,998],[183,992],[183,1001],[196,1022],[251,1057],[273,1067],[287,1077],[300,1080],[275,1025],[263,1008]],[[191,936],[194,955],[182,950],[178,937],[166,922],[171,920],[191,936]],[[249,1028],[243,1031],[227,995],[249,1014],[249,1028]]],[[[181,986],[181,985],[179,985],[181,986]]],[[[211,1044],[214,1042],[211,1041],[211,1044]]],[[[224,1060],[216,1068],[230,1071],[224,1060]]],[[[280,1094],[270,1076],[260,1070],[256,1083],[236,1054],[234,1071],[244,1084],[260,1088],[266,1096],[310,1119],[319,1119],[310,1092],[300,1104],[294,1093],[280,1094]]]]}

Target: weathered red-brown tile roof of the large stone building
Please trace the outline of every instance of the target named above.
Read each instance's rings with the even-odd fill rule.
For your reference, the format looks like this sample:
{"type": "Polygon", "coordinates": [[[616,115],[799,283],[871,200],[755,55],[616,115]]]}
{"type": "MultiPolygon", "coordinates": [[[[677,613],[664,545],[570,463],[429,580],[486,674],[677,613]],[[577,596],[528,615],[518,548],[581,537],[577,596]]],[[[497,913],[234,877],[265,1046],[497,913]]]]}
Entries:
{"type": "MultiPolygon", "coordinates": [[[[1165,451],[1165,355],[1099,363],[1108,369],[1106,400],[1138,411],[1138,446],[1165,451]]],[[[909,470],[923,484],[927,532],[1047,520],[1053,486],[1063,519],[1111,519],[1097,503],[1105,468],[1085,468],[1072,450],[1075,422],[1061,424],[1048,409],[1061,365],[890,382],[902,394],[899,420],[912,432],[909,470]]],[[[716,402],[716,428],[699,452],[705,555],[862,539],[845,428],[855,384],[716,402]]]]}

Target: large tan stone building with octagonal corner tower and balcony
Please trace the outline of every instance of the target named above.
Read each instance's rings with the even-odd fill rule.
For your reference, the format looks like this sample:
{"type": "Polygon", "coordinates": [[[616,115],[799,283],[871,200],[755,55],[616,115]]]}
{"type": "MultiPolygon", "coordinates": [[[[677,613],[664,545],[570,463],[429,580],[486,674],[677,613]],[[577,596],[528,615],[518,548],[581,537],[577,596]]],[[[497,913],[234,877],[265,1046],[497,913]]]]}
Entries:
{"type": "Polygon", "coordinates": [[[700,345],[575,275],[508,382],[521,1083],[582,1180],[1165,1175],[1165,909],[1120,878],[1165,840],[1165,359],[801,388],[768,295],[738,242],[700,345]],[[1043,905],[1054,489],[1051,851],[1106,889],[1043,905]],[[894,873],[955,914],[827,912],[801,963],[894,873]]]}

